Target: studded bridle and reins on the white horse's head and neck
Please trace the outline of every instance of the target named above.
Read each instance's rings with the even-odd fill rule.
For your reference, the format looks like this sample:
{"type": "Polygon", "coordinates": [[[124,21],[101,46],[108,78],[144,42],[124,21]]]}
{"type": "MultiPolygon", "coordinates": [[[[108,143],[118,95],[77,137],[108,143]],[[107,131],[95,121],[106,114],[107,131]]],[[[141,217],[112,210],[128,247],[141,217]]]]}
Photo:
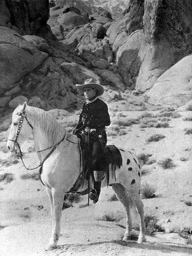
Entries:
{"type": "Polygon", "coordinates": [[[17,144],[17,147],[18,147],[18,149],[20,150],[20,159],[22,160],[22,164],[23,164],[24,168],[26,168],[27,170],[35,170],[35,169],[37,169],[37,168],[40,167],[40,174],[41,174],[42,168],[43,168],[43,163],[45,163],[45,161],[50,157],[50,155],[54,152],[54,150],[57,148],[57,146],[59,146],[59,144],[60,144],[61,142],[63,142],[63,141],[66,139],[66,134],[65,134],[64,137],[63,137],[59,142],[57,142],[56,144],[54,144],[54,145],[52,145],[52,146],[50,146],[50,147],[47,147],[46,149],[38,150],[37,152],[40,153],[40,152],[42,152],[42,151],[46,151],[46,150],[48,150],[48,149],[52,149],[52,150],[45,156],[45,158],[43,159],[43,161],[40,162],[40,164],[39,164],[38,166],[36,166],[35,168],[27,168],[27,166],[24,164],[24,161],[23,161],[23,159],[22,159],[22,155],[23,155],[23,154],[22,154],[22,149],[21,149],[21,147],[20,147],[20,144],[17,142],[17,140],[18,140],[18,137],[19,137],[19,135],[20,135],[20,133],[21,133],[22,124],[23,124],[24,119],[27,121],[28,125],[31,127],[32,130],[34,130],[34,127],[31,125],[31,123],[30,123],[29,120],[27,119],[27,114],[26,114],[26,112],[22,112],[22,113],[21,113],[21,112],[18,112],[17,115],[18,115],[18,116],[21,116],[21,117],[20,117],[20,121],[19,121],[19,124],[18,124],[18,128],[17,128],[17,133],[16,133],[15,140],[10,140],[10,139],[8,139],[8,140],[10,140],[10,141],[14,142],[15,144],[17,144]]]}

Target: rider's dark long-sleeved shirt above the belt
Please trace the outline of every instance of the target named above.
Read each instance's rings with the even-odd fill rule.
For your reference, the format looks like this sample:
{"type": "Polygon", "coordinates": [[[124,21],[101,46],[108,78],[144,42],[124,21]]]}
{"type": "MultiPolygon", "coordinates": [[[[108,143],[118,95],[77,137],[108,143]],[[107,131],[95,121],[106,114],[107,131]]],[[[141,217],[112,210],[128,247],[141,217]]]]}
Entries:
{"type": "Polygon", "coordinates": [[[82,130],[84,127],[89,128],[105,128],[110,125],[110,115],[108,113],[108,105],[97,98],[94,102],[84,103],[80,119],[76,129],[82,130]],[[87,116],[86,123],[82,124],[82,116],[87,116]]]}

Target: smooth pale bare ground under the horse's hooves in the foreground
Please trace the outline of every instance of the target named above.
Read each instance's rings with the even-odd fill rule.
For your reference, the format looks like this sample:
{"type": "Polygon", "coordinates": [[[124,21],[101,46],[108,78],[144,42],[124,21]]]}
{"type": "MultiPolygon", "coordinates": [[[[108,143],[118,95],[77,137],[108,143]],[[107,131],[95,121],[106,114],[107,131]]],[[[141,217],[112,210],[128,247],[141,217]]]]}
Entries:
{"type": "MultiPolygon", "coordinates": [[[[124,229],[114,222],[62,223],[58,248],[45,252],[50,237],[50,220],[29,222],[0,231],[2,256],[163,256],[192,255],[192,248],[170,242],[165,235],[147,236],[147,243],[121,241],[124,229]]],[[[170,238],[170,237],[169,237],[170,238]]]]}

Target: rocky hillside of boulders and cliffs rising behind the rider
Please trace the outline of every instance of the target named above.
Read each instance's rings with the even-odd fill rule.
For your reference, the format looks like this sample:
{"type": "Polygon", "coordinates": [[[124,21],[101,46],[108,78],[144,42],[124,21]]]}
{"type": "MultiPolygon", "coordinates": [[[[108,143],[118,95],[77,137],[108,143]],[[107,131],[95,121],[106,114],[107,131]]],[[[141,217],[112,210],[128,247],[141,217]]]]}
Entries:
{"type": "Polygon", "coordinates": [[[191,14],[187,0],[2,0],[1,114],[24,100],[71,111],[75,83],[91,76],[111,97],[135,90],[153,104],[189,104],[191,14]]]}

